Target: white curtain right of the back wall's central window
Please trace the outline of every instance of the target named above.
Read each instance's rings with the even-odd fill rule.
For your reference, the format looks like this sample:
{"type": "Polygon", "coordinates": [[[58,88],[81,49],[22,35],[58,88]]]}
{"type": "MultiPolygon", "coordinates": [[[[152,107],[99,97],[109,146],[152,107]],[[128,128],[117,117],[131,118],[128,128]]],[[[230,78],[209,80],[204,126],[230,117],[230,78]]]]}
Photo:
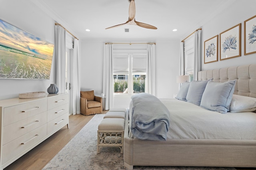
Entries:
{"type": "Polygon", "coordinates": [[[156,96],[156,44],[147,44],[145,92],[156,96]]]}

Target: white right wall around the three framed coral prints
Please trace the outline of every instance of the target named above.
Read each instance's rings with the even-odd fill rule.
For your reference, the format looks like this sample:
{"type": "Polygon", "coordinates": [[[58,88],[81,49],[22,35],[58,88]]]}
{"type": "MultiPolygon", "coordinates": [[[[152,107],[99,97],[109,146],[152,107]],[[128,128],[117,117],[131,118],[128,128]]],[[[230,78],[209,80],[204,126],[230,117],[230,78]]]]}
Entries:
{"type": "MultiPolygon", "coordinates": [[[[244,21],[255,16],[255,0],[235,1],[220,14],[210,19],[202,26],[202,70],[245,65],[256,63],[256,53],[244,55],[244,21]],[[241,57],[225,59],[220,61],[220,44],[218,44],[219,61],[204,64],[204,41],[242,23],[241,27],[241,57]]],[[[220,38],[220,35],[219,35],[220,38]]],[[[220,41],[219,41],[220,43],[220,41]]]]}

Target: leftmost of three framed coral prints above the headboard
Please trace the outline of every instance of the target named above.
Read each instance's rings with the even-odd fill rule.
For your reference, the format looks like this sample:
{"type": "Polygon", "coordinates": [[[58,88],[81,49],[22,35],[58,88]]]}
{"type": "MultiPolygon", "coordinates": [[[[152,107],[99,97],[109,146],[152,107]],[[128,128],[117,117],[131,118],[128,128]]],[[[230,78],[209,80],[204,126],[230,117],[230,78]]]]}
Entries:
{"type": "Polygon", "coordinates": [[[218,61],[218,35],[204,42],[204,63],[218,61]]]}

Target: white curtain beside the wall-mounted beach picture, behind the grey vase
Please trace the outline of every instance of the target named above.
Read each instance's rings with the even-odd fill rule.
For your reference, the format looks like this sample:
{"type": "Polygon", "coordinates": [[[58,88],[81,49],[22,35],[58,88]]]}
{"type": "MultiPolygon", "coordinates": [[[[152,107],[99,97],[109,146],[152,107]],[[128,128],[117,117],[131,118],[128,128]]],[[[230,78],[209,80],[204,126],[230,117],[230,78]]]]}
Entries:
{"type": "Polygon", "coordinates": [[[61,26],[55,26],[55,67],[56,85],[59,93],[65,93],[65,47],[66,30],[61,26]]]}

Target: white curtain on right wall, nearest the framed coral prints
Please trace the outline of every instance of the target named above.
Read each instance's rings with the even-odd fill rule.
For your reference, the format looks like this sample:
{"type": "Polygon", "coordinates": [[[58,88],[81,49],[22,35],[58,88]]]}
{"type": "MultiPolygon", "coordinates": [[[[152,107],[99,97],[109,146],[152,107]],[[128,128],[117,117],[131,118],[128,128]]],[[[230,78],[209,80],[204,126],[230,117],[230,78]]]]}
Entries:
{"type": "Polygon", "coordinates": [[[194,33],[194,80],[198,80],[198,71],[201,71],[201,30],[194,33]]]}

